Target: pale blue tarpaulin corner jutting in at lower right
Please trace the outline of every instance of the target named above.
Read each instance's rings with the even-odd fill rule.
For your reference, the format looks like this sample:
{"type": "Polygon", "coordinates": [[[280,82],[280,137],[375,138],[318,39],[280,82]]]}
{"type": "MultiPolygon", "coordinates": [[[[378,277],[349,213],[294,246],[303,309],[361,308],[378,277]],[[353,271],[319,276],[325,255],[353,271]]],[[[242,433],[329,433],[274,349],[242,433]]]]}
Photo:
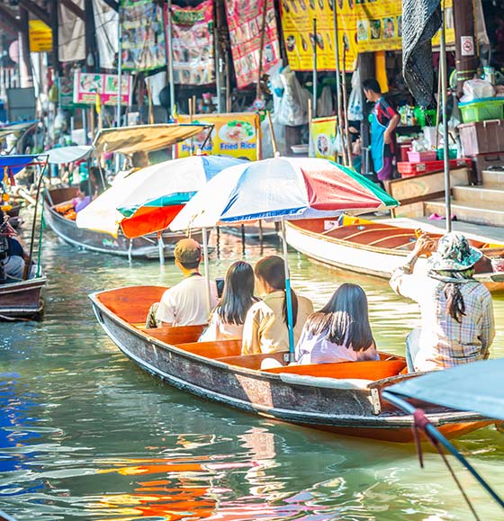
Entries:
{"type": "Polygon", "coordinates": [[[392,394],[504,419],[504,358],[459,365],[387,388],[392,394]]]}

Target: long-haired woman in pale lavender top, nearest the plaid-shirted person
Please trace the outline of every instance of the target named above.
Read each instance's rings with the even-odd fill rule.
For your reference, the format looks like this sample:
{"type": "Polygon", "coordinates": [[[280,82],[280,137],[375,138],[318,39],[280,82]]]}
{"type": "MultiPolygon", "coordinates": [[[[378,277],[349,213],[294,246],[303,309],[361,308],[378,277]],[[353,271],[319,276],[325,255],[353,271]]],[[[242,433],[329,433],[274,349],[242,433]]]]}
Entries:
{"type": "Polygon", "coordinates": [[[297,364],[379,359],[365,292],[351,283],[341,284],[329,302],[308,318],[295,350],[297,364]]]}

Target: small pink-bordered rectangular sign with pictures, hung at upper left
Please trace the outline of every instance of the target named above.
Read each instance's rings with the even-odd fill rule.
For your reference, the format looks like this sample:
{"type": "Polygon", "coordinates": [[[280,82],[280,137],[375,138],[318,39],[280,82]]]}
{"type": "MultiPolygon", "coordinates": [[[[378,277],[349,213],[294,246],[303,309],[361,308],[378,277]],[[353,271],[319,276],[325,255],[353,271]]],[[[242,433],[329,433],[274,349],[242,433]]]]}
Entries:
{"type": "MultiPolygon", "coordinates": [[[[74,103],[117,105],[117,87],[117,75],[76,72],[74,76],[74,103]]],[[[132,77],[129,75],[121,76],[121,104],[131,104],[132,91],[132,77]]]]}

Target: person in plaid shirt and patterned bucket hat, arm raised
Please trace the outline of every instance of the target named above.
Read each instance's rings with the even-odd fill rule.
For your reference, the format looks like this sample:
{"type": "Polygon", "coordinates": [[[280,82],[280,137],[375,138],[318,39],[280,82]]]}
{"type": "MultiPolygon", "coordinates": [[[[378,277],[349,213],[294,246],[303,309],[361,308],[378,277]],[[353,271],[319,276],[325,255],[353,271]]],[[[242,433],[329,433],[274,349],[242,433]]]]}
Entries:
{"type": "Polygon", "coordinates": [[[392,289],[420,306],[421,328],[406,341],[410,371],[432,371],[484,360],[495,337],[491,293],[473,278],[482,252],[461,233],[437,244],[422,234],[405,265],[392,274],[392,289]],[[428,274],[413,274],[419,256],[435,252],[428,274]]]}

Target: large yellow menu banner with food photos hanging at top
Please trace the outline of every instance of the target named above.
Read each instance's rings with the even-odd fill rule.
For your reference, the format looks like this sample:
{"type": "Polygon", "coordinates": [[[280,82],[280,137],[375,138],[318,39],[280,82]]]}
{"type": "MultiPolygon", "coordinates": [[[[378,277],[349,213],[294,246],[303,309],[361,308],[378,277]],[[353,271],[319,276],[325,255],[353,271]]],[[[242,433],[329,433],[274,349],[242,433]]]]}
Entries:
{"type": "MultiPolygon", "coordinates": [[[[338,5],[340,67],[354,70],[359,52],[401,50],[401,0],[282,0],[285,49],[293,70],[313,69],[317,41],[318,70],[334,70],[334,4],[338,5]],[[317,20],[314,36],[313,20],[317,20]]],[[[453,0],[446,0],[446,43],[455,43],[453,0]]],[[[433,40],[439,44],[439,37],[433,40]]]]}

